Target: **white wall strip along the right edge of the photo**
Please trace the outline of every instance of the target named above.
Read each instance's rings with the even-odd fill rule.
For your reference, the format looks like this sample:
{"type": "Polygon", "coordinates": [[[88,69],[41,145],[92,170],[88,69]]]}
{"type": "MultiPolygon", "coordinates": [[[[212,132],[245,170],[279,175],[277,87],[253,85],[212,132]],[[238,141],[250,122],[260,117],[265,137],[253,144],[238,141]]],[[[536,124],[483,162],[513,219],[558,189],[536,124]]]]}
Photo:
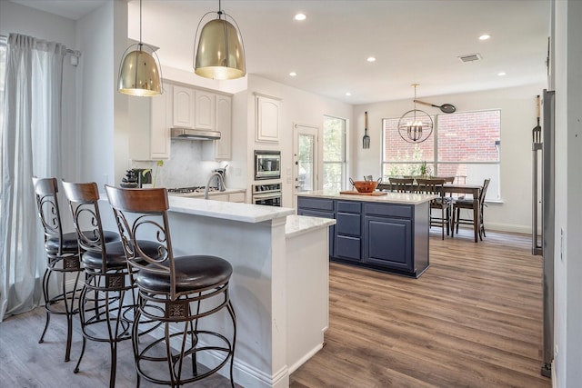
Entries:
{"type": "Polygon", "coordinates": [[[582,382],[582,2],[556,1],[555,386],[582,382]],[[563,232],[563,236],[560,236],[563,232]]]}

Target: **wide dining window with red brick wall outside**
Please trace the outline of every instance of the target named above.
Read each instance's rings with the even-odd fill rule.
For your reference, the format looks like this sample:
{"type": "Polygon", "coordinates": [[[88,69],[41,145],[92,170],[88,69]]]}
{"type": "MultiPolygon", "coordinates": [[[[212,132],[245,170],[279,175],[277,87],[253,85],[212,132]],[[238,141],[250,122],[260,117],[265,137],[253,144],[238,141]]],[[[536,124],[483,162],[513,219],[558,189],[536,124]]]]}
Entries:
{"type": "Polygon", "coordinates": [[[426,162],[428,174],[455,176],[460,184],[483,184],[486,178],[491,178],[487,199],[499,199],[501,111],[437,114],[433,119],[433,133],[419,144],[407,143],[400,137],[397,118],[383,120],[384,179],[419,175],[426,162]]]}

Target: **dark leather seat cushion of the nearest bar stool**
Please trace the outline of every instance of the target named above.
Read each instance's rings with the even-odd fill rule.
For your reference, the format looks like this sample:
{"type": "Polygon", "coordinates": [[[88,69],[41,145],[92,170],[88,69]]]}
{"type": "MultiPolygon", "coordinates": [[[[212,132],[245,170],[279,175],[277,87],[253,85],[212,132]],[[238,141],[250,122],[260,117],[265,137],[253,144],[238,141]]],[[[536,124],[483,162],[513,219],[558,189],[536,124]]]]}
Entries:
{"type": "MultiPolygon", "coordinates": [[[[168,261],[163,263],[167,267],[168,261]]],[[[226,260],[216,256],[191,255],[174,258],[176,268],[176,293],[203,290],[215,284],[224,284],[230,279],[233,267],[226,260]]],[[[152,269],[152,264],[147,265],[152,269]]],[[[136,284],[156,293],[169,293],[169,274],[154,274],[140,271],[135,277],[136,284]]]]}

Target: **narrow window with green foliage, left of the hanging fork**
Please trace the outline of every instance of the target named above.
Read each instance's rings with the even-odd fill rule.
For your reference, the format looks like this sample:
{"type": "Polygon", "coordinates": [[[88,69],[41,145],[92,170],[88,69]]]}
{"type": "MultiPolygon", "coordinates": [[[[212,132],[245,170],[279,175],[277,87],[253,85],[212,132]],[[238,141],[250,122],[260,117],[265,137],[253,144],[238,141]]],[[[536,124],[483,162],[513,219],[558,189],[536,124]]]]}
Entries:
{"type": "Polygon", "coordinates": [[[324,190],[340,191],[346,182],[346,120],[324,117],[324,190]]]}

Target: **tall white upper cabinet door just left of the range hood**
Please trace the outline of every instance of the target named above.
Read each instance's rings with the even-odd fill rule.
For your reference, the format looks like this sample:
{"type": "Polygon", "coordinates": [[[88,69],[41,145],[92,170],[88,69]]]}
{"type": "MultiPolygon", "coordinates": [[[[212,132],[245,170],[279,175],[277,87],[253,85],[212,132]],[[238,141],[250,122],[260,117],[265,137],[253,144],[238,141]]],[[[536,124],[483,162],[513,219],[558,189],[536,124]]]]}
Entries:
{"type": "Polygon", "coordinates": [[[150,132],[150,158],[169,159],[170,158],[170,126],[172,119],[170,116],[172,86],[164,88],[162,95],[151,98],[151,132],[150,132]],[[168,90],[169,89],[169,90],[168,90]]]}

